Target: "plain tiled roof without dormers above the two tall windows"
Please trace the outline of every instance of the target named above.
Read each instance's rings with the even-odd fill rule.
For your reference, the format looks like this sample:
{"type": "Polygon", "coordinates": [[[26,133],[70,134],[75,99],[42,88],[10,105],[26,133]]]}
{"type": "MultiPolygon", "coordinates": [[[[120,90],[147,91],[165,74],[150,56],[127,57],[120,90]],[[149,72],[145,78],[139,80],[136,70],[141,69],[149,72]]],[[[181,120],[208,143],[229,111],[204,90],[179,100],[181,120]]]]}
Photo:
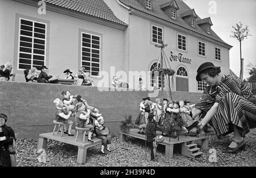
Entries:
{"type": "Polygon", "coordinates": [[[91,15],[96,18],[118,23],[123,26],[128,26],[114,15],[113,11],[108,5],[106,5],[104,0],[46,0],[45,2],[65,9],[77,11],[79,13],[91,15]]]}

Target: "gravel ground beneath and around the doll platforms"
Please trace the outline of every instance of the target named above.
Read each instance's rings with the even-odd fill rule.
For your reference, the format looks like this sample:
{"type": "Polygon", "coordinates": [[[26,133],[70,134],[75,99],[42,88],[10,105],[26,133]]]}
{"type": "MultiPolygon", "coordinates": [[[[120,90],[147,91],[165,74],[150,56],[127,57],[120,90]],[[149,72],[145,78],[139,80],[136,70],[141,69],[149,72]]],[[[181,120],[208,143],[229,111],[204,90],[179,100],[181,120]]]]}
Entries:
{"type": "MultiPolygon", "coordinates": [[[[229,145],[232,139],[232,134],[226,136],[222,140],[218,140],[216,135],[208,135],[209,148],[215,148],[217,151],[217,162],[209,162],[209,150],[201,150],[203,155],[192,159],[179,154],[179,146],[174,147],[174,158],[166,158],[164,156],[164,146],[159,145],[156,161],[150,160],[150,148],[145,147],[144,141],[136,138],[127,138],[125,143],[119,141],[119,138],[112,138],[112,152],[102,155],[100,152],[101,146],[90,147],[87,150],[86,163],[76,163],[77,147],[65,143],[48,141],[46,149],[47,162],[39,163],[36,152],[38,139],[18,139],[18,154],[16,154],[17,166],[20,167],[73,167],[73,166],[189,166],[189,167],[209,167],[209,166],[256,166],[256,129],[251,129],[246,135],[246,150],[237,154],[226,154],[221,150],[229,145]]],[[[199,144],[200,142],[196,142],[199,144]]]]}

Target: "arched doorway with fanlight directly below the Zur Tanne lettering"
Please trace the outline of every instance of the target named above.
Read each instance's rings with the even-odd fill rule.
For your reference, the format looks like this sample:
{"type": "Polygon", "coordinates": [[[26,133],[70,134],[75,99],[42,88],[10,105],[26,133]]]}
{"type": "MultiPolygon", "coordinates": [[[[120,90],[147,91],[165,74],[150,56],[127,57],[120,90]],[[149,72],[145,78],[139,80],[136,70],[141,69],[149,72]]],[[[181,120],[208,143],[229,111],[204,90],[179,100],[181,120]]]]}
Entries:
{"type": "Polygon", "coordinates": [[[188,92],[188,72],[184,67],[179,67],[177,69],[176,91],[188,92]]]}

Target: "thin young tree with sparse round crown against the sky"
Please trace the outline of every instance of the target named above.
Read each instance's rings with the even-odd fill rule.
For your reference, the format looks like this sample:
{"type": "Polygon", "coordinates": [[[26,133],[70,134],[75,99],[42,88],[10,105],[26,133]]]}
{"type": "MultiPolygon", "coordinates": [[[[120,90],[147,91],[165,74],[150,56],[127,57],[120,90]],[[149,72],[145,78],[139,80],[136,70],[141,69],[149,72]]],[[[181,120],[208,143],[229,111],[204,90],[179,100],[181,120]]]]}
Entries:
{"type": "Polygon", "coordinates": [[[232,38],[236,38],[239,43],[240,43],[240,78],[243,80],[243,59],[242,59],[242,41],[244,39],[247,39],[248,36],[252,36],[249,33],[249,28],[248,26],[245,26],[245,28],[242,27],[243,24],[239,22],[239,24],[236,24],[236,27],[232,26],[234,28],[234,31],[232,31],[233,35],[230,35],[232,38]]]}

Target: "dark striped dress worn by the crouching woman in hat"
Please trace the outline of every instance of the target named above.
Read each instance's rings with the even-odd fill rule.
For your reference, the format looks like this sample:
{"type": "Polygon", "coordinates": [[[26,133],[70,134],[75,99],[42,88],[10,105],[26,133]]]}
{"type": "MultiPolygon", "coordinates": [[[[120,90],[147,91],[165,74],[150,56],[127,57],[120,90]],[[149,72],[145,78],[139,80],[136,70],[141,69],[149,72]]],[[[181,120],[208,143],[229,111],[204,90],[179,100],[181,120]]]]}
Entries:
{"type": "Polygon", "coordinates": [[[223,75],[220,85],[208,86],[195,105],[204,115],[217,102],[218,108],[210,125],[213,126],[218,138],[233,132],[234,124],[242,136],[256,127],[256,98],[251,89],[233,75],[223,75]]]}

